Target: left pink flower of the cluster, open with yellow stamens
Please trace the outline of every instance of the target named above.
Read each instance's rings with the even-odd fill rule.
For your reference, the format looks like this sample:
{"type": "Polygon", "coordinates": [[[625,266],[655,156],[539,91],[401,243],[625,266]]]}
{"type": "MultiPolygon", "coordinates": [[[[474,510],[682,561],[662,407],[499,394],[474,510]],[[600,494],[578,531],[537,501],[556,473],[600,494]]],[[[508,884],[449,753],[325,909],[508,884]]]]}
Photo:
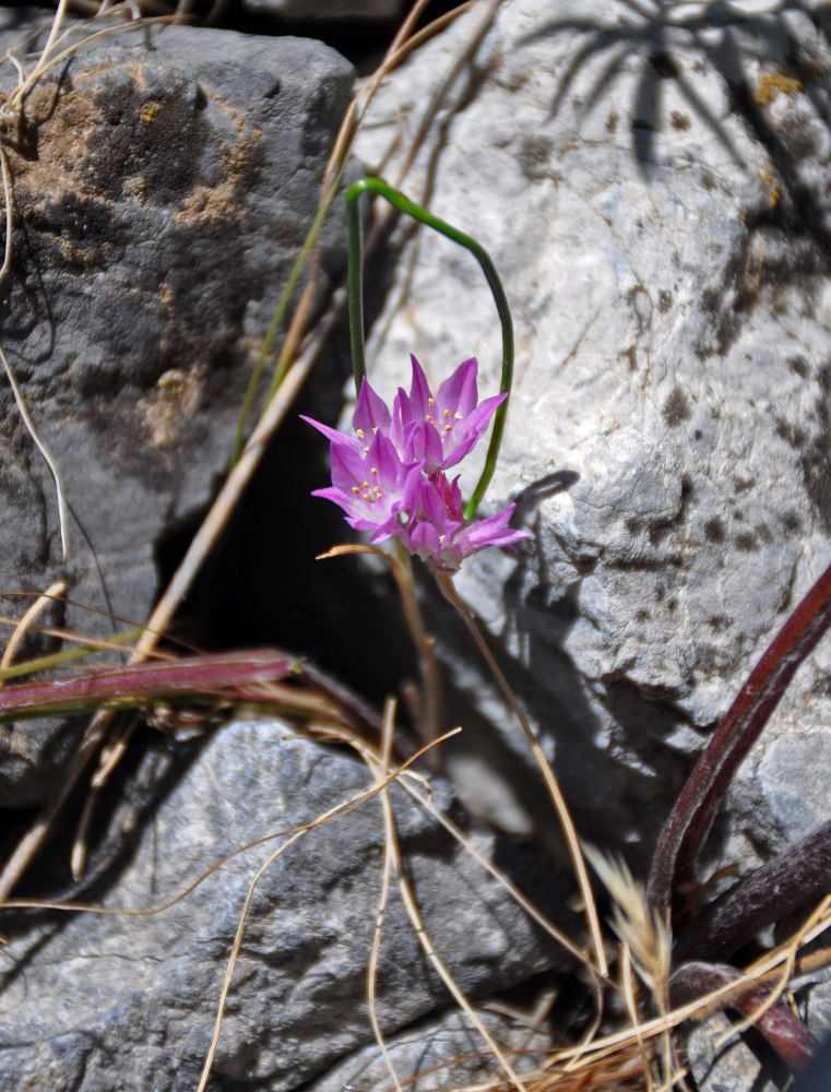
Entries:
{"type": "Polygon", "coordinates": [[[382,542],[401,526],[399,513],[412,505],[422,463],[403,463],[380,429],[366,451],[356,451],[352,443],[343,442],[348,439],[332,441],[332,485],[316,489],[312,497],[324,497],[340,505],[351,527],[371,531],[371,542],[382,542]]]}

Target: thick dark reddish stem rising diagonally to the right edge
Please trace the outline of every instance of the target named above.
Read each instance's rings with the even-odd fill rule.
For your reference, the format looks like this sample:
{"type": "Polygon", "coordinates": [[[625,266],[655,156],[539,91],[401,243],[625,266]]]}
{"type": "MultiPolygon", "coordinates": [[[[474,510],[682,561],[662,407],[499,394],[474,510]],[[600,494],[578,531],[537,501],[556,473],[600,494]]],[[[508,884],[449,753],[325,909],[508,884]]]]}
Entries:
{"type": "Polygon", "coordinates": [[[831,624],[831,566],[771,642],[716,728],[666,820],[648,894],[662,914],[695,868],[736,770],[756,743],[797,667],[831,624]]]}

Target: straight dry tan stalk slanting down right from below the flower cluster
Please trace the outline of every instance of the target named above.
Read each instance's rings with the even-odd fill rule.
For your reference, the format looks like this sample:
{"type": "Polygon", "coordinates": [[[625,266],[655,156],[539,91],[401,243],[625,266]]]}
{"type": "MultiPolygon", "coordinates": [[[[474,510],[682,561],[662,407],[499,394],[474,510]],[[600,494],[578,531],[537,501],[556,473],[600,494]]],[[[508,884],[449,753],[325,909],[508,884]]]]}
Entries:
{"type": "Polygon", "coordinates": [[[580,848],[580,839],[578,838],[574,822],[571,818],[571,814],[569,812],[568,805],[566,804],[566,797],[562,795],[559,782],[557,781],[554,770],[551,769],[551,764],[545,757],[543,748],[539,746],[539,743],[529,724],[527,717],[522,711],[520,703],[517,701],[508,679],[502,674],[499,664],[497,664],[490,649],[487,646],[485,638],[482,636],[482,631],[476,624],[476,619],[474,618],[472,612],[463,602],[459,592],[456,592],[452,578],[443,574],[437,574],[436,580],[438,581],[444,598],[451,603],[461,615],[462,620],[467,627],[471,637],[473,637],[473,640],[476,642],[476,646],[482,653],[485,663],[490,668],[494,678],[499,685],[499,689],[502,691],[506,701],[513,710],[517,715],[517,720],[522,725],[522,731],[525,733],[525,738],[529,741],[529,746],[531,747],[534,758],[536,759],[536,763],[539,767],[539,771],[543,774],[543,780],[545,781],[548,795],[551,798],[551,804],[557,812],[557,818],[559,819],[560,828],[566,839],[566,844],[568,845],[571,864],[574,869],[578,887],[585,907],[589,933],[592,937],[594,946],[596,970],[598,974],[605,978],[608,976],[608,964],[606,963],[606,954],[603,950],[603,935],[601,933],[601,922],[597,915],[597,906],[594,901],[592,885],[589,880],[589,870],[585,866],[583,852],[580,848]]]}

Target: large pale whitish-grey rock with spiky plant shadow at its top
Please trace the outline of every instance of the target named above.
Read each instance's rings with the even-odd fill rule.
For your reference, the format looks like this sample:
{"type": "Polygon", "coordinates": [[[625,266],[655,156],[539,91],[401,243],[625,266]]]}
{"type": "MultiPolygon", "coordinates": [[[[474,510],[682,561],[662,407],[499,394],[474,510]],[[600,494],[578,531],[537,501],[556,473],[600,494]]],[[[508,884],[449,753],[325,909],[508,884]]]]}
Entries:
{"type": "MultiPolygon", "coordinates": [[[[515,500],[534,539],[458,583],[582,831],[640,867],[691,757],[831,560],[831,12],[747,7],[513,0],[477,39],[485,5],[392,75],[358,143],[369,170],[408,150],[473,44],[403,188],[418,200],[429,181],[431,210],[503,277],[517,369],[486,509],[515,500]]],[[[492,391],[487,286],[424,232],[391,252],[370,376],[389,396],[411,351],[437,381],[477,355],[492,391]]],[[[463,632],[437,629],[500,726],[495,751],[511,749],[463,632]]],[[[830,667],[826,642],[746,764],[716,859],[751,867],[831,817],[816,757],[830,667]]],[[[533,821],[523,778],[495,805],[506,823],[533,821]]]]}

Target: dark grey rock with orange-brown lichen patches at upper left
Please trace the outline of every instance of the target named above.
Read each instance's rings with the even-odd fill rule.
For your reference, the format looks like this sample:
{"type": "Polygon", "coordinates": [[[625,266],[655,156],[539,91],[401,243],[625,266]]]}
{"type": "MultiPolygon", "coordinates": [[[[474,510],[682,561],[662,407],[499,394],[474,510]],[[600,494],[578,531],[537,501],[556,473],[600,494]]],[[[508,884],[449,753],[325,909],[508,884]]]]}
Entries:
{"type": "MultiPolygon", "coordinates": [[[[0,10],[2,52],[31,26],[0,10]]],[[[5,61],[3,96],[15,82],[5,61]]],[[[351,85],[320,43],[155,26],[82,46],[31,91],[5,145],[0,337],[73,514],[64,561],[54,482],[3,381],[4,589],[66,575],[75,601],[145,619],[159,542],[227,465],[351,85]]],[[[323,289],[342,230],[335,216],[322,240],[323,289]]],[[[47,620],[109,629],[81,610],[47,620]]],[[[0,728],[0,806],[48,798],[62,755],[54,734],[0,728]]]]}

